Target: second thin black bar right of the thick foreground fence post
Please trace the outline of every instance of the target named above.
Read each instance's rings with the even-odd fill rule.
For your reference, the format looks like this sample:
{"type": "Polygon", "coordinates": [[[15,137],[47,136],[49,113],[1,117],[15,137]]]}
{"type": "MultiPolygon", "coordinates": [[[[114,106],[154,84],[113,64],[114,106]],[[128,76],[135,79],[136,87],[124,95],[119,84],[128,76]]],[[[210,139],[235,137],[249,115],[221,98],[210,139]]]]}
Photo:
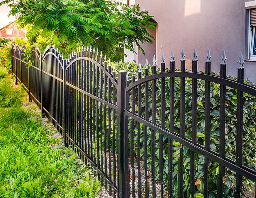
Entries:
{"type": "MultiPolygon", "coordinates": [[[[135,76],[132,75],[132,83],[135,82],[135,76]]],[[[132,88],[132,114],[135,114],[135,88],[132,88]]],[[[129,109],[127,109],[129,110],[129,109]]],[[[135,197],[135,172],[134,172],[134,119],[131,119],[131,167],[132,167],[132,198],[135,197]]]]}

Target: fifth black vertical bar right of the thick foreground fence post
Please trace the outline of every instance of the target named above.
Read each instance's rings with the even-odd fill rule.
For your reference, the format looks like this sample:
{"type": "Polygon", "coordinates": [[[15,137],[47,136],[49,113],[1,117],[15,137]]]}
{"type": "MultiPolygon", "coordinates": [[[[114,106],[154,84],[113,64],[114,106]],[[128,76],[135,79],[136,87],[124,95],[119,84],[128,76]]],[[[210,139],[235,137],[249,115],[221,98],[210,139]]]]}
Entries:
{"type": "MultiPolygon", "coordinates": [[[[155,57],[154,57],[155,58],[155,57]]],[[[156,74],[156,64],[153,60],[152,74],[156,74]]],[[[152,122],[156,124],[156,79],[152,80],[152,122]]],[[[151,177],[152,177],[152,194],[156,198],[155,186],[155,131],[151,129],[151,177]]]]}

